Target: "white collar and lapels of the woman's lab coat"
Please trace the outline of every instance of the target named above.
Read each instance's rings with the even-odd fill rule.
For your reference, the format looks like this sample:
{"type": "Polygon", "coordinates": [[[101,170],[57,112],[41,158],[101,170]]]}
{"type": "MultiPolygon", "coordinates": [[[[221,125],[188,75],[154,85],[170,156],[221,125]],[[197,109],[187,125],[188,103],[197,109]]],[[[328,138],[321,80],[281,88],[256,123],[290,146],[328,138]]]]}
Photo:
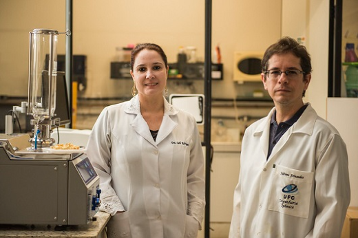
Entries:
{"type": "Polygon", "coordinates": [[[140,136],[145,138],[145,140],[153,144],[154,147],[157,147],[157,144],[159,144],[162,140],[164,140],[171,133],[171,131],[173,131],[173,129],[178,125],[178,123],[174,122],[173,119],[171,118],[171,116],[176,115],[178,113],[178,110],[175,107],[173,107],[173,105],[169,104],[169,102],[167,102],[167,100],[164,97],[163,100],[164,100],[164,116],[162,119],[162,125],[160,125],[160,129],[156,141],[154,141],[153,137],[151,136],[147,122],[145,122],[142,114],[140,113],[140,102],[139,102],[138,95],[134,96],[133,98],[131,98],[131,100],[129,100],[127,108],[125,109],[126,113],[136,114],[136,118],[134,118],[133,122],[131,122],[131,127],[133,127],[134,130],[138,134],[140,134],[140,136]]]}

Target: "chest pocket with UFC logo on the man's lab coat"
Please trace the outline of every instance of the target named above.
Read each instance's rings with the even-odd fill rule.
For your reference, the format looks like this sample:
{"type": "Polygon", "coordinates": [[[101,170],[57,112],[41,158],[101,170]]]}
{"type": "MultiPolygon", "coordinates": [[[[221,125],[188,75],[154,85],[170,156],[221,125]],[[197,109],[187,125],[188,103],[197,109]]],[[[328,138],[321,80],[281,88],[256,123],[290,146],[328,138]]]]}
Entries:
{"type": "Polygon", "coordinates": [[[299,171],[278,164],[268,196],[268,210],[294,217],[307,218],[310,209],[313,172],[299,171]]]}

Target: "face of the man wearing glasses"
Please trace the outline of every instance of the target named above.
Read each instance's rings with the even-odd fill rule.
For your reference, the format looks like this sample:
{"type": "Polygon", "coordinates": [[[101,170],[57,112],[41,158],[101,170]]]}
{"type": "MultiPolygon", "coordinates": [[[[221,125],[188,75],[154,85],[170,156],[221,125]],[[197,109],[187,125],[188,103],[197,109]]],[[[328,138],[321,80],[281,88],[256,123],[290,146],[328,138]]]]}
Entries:
{"type": "Polygon", "coordinates": [[[269,72],[282,72],[281,75],[261,74],[264,88],[268,91],[275,102],[275,106],[291,105],[298,107],[302,105],[302,93],[308,88],[310,74],[304,74],[300,65],[300,59],[292,53],[273,54],[268,60],[267,70],[269,72]],[[274,71],[273,71],[274,70],[274,71]],[[286,76],[286,70],[293,70],[297,75],[286,76]]]}

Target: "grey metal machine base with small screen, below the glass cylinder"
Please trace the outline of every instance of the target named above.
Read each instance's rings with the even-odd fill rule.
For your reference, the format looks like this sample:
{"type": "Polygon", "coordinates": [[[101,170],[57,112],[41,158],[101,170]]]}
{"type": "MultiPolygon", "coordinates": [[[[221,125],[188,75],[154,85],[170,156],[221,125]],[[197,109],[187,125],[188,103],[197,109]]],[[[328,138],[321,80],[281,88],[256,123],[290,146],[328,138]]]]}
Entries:
{"type": "Polygon", "coordinates": [[[28,138],[0,134],[0,224],[87,224],[101,193],[87,155],[26,152],[28,138]]]}

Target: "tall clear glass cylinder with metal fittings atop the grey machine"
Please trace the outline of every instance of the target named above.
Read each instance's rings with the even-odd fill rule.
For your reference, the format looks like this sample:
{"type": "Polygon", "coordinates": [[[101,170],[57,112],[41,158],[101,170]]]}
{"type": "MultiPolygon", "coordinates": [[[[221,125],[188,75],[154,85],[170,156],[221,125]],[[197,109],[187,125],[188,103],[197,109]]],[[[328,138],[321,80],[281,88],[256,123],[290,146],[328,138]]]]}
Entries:
{"type": "Polygon", "coordinates": [[[51,118],[56,109],[56,45],[59,32],[34,29],[30,33],[28,114],[34,117],[34,149],[49,147],[51,118]]]}

